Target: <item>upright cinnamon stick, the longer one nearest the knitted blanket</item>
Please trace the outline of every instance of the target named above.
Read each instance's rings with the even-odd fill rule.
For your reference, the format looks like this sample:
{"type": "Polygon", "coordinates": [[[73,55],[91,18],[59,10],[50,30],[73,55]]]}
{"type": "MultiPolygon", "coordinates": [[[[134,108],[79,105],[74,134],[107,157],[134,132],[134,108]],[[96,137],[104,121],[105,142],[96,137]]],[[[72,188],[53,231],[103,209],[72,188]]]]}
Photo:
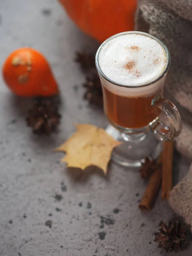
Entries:
{"type": "Polygon", "coordinates": [[[166,200],[169,198],[169,194],[172,189],[173,148],[173,141],[165,141],[163,143],[161,198],[166,200]]]}

